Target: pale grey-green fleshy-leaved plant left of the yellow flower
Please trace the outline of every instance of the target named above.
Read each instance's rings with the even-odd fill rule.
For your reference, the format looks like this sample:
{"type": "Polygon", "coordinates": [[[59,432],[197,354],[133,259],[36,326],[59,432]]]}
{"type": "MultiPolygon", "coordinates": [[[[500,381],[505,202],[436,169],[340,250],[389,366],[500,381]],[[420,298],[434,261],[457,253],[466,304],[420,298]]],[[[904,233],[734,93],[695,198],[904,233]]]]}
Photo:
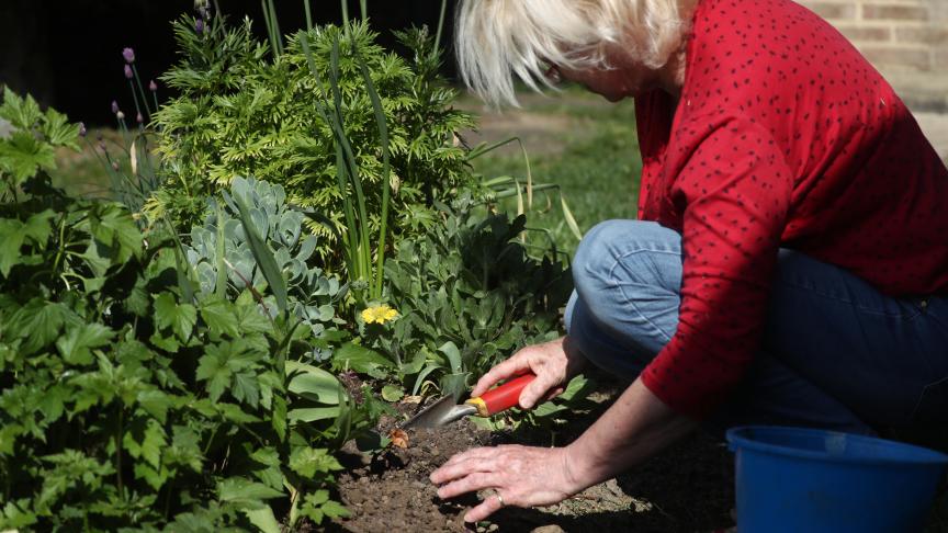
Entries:
{"type": "MultiPolygon", "coordinates": [[[[335,306],[345,297],[347,286],[307,264],[319,238],[304,234],[305,215],[291,208],[282,186],[235,178],[226,200],[211,202],[204,225],[191,229],[190,243],[184,247],[200,293],[233,298],[248,288],[260,295],[269,290],[240,223],[238,202],[246,206],[255,234],[272,253],[273,264],[285,280],[290,310],[317,340],[313,358],[325,360],[329,355],[328,341],[340,334],[337,326],[342,320],[335,306]]],[[[262,302],[269,315],[275,317],[274,298],[263,297],[262,302]]]]}

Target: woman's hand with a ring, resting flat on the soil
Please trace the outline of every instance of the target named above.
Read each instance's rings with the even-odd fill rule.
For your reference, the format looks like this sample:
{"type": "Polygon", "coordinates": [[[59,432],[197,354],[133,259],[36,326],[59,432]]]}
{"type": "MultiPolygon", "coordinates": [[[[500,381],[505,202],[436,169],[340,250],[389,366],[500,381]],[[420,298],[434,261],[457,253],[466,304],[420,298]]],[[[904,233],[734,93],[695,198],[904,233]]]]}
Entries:
{"type": "Polygon", "coordinates": [[[431,473],[442,499],[493,489],[465,522],[479,522],[505,506],[551,506],[583,490],[569,469],[567,449],[504,445],[476,447],[451,457],[431,473]]]}

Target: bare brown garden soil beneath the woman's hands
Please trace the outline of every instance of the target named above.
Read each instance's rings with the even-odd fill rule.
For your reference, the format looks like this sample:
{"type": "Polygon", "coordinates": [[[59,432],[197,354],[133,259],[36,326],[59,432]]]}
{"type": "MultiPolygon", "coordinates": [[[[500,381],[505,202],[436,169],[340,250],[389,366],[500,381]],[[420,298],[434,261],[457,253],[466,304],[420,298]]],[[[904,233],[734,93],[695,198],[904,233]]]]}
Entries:
{"type": "MultiPolygon", "coordinates": [[[[600,393],[603,410],[614,392],[600,393]]],[[[406,412],[406,416],[410,412],[406,412]]],[[[567,442],[599,412],[575,416],[555,434],[567,442]]],[[[394,427],[384,420],[383,432],[394,427]]],[[[523,427],[521,427],[523,428],[523,427]]],[[[455,453],[505,443],[550,445],[551,432],[535,428],[490,432],[467,420],[438,430],[408,430],[407,447],[375,456],[350,449],[339,479],[339,497],[352,517],[332,531],[405,533],[476,532],[711,532],[733,525],[733,456],[720,442],[696,435],[640,467],[596,485],[560,504],[505,508],[486,522],[465,524],[464,512],[478,497],[441,500],[429,474],[455,453]]],[[[486,496],[486,495],[481,495],[486,496]]]]}

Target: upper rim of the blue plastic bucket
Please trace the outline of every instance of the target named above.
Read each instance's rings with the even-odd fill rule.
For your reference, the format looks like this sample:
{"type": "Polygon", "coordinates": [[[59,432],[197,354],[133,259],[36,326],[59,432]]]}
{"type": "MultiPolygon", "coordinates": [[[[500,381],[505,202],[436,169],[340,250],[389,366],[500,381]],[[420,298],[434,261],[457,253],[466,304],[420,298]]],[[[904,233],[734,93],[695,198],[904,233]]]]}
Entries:
{"type": "Polygon", "coordinates": [[[848,464],[913,464],[913,465],[948,465],[948,455],[924,446],[915,444],[906,444],[904,442],[891,441],[876,436],[860,435],[856,433],[846,433],[843,431],[822,430],[815,428],[797,428],[785,426],[738,426],[726,431],[725,438],[729,443],[729,449],[736,452],[737,447],[753,450],[755,452],[766,452],[771,454],[792,456],[799,458],[810,458],[816,461],[832,460],[835,463],[848,464]],[[882,444],[890,449],[901,449],[906,452],[913,452],[912,455],[905,457],[878,457],[878,456],[853,456],[853,455],[835,455],[830,452],[817,452],[815,450],[802,450],[793,446],[780,444],[770,444],[752,440],[745,433],[751,431],[767,431],[771,433],[786,434],[804,434],[811,436],[842,435],[847,440],[861,441],[864,443],[882,444]]]}

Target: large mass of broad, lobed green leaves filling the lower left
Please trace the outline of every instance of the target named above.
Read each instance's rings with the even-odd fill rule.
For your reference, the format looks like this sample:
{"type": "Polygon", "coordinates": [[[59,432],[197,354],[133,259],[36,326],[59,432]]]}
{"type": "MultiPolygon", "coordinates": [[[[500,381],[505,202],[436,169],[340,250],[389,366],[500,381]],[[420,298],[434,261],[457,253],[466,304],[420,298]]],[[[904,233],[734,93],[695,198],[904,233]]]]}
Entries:
{"type": "Polygon", "coordinates": [[[379,410],[298,362],[313,331],[249,291],[183,297],[172,240],[48,177],[22,185],[0,203],[0,529],[345,514],[331,452],[379,410]]]}

